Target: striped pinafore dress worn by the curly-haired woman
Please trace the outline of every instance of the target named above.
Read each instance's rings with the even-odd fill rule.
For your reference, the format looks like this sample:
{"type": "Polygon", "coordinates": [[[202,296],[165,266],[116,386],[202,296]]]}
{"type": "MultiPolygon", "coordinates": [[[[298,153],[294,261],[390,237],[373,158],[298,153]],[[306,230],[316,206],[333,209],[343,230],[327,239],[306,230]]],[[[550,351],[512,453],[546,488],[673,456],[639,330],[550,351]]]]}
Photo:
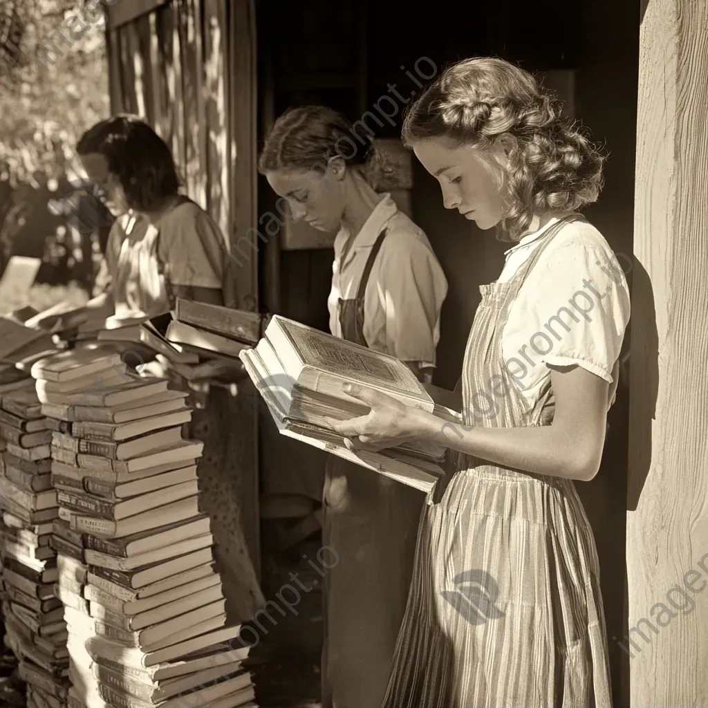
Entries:
{"type": "MultiPolygon", "coordinates": [[[[554,224],[511,282],[480,288],[464,425],[552,421],[550,382],[532,406],[508,384],[501,336],[527,274],[576,218],[554,224]]],[[[455,468],[421,517],[382,708],[610,708],[598,557],[573,482],[463,455],[455,468]]]]}

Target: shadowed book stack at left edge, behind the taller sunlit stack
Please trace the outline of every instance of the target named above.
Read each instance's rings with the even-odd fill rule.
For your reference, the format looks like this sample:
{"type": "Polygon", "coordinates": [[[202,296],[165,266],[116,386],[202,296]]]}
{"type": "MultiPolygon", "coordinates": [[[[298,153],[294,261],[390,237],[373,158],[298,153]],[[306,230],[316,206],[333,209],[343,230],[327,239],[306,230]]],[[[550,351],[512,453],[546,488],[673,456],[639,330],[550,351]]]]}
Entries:
{"type": "Polygon", "coordinates": [[[67,627],[54,594],[59,569],[50,544],[59,509],[51,484],[51,431],[33,389],[2,394],[0,435],[5,641],[19,660],[27,705],[61,706],[69,687],[67,627]]]}

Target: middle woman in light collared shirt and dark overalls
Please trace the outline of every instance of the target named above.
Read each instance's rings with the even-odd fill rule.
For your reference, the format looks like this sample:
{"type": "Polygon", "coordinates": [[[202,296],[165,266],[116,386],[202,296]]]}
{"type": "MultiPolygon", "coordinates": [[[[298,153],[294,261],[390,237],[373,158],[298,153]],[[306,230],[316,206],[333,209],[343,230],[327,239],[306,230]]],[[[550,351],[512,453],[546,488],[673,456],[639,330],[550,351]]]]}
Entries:
{"type": "MultiPolygon", "coordinates": [[[[435,365],[447,281],[426,234],[367,177],[382,164],[336,111],[295,108],[275,122],[259,168],[294,219],[334,238],[330,329],[408,363],[435,365]]],[[[378,708],[406,606],[423,493],[330,456],[323,544],[322,704],[378,708]]]]}

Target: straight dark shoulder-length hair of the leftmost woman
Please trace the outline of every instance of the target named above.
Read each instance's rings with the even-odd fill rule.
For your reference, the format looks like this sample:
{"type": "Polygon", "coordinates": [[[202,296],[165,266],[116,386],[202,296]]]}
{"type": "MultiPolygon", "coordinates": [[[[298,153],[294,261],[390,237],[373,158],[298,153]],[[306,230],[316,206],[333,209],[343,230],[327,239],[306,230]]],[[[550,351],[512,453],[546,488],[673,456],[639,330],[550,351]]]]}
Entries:
{"type": "Polygon", "coordinates": [[[81,136],[76,152],[105,157],[131,209],[153,211],[178,193],[180,182],[171,150],[135,115],[115,115],[96,123],[81,136]]]}

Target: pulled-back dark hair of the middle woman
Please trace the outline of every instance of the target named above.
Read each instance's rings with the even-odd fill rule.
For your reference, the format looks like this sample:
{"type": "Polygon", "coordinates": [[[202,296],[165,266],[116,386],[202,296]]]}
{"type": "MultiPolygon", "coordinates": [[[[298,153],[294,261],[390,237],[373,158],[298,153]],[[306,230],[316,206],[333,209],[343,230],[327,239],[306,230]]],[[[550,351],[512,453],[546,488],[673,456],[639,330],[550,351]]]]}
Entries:
{"type": "Polygon", "coordinates": [[[365,165],[373,156],[372,137],[363,120],[352,124],[324,105],[290,108],[268,133],[258,171],[324,171],[327,161],[335,156],[348,165],[365,165]]]}

